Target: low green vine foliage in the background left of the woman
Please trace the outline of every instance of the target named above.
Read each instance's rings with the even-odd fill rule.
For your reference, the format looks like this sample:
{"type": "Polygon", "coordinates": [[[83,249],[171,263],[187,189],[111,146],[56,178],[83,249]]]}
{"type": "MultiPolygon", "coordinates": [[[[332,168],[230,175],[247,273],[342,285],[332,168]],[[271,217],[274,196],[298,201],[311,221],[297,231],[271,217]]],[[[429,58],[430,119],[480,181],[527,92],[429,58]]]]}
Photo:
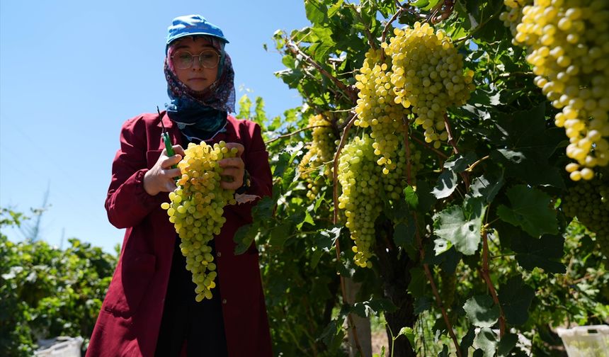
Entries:
{"type": "MultiPolygon", "coordinates": [[[[2,216],[0,228],[23,221],[4,208],[2,216]]],[[[1,356],[32,356],[38,339],[91,336],[117,257],[79,239],[69,243],[60,250],[0,233],[1,356]]]]}

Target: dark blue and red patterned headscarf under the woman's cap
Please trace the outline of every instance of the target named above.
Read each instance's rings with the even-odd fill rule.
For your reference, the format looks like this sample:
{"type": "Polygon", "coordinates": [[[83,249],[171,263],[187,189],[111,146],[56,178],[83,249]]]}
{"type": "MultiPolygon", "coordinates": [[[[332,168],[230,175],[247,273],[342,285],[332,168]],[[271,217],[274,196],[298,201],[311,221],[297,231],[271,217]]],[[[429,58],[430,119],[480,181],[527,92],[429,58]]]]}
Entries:
{"type": "Polygon", "coordinates": [[[189,140],[212,135],[224,127],[227,113],[234,113],[234,70],[229,55],[224,52],[224,42],[211,36],[202,37],[220,52],[216,81],[205,91],[193,91],[178,79],[171,63],[177,41],[169,45],[164,64],[167,94],[171,98],[165,107],[169,118],[189,140]]]}

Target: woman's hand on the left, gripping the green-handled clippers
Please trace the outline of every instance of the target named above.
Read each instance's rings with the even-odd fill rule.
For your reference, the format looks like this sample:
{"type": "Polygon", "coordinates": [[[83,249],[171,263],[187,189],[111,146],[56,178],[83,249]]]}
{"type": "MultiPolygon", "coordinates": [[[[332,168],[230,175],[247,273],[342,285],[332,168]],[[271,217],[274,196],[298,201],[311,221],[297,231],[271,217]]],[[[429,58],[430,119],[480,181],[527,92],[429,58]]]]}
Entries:
{"type": "Polygon", "coordinates": [[[156,196],[159,192],[171,192],[176,189],[174,177],[181,176],[180,169],[171,169],[171,166],[178,164],[184,156],[184,149],[181,145],[173,145],[172,157],[167,156],[167,149],[163,149],[161,156],[156,160],[152,169],[144,174],[144,191],[150,196],[156,196]]]}

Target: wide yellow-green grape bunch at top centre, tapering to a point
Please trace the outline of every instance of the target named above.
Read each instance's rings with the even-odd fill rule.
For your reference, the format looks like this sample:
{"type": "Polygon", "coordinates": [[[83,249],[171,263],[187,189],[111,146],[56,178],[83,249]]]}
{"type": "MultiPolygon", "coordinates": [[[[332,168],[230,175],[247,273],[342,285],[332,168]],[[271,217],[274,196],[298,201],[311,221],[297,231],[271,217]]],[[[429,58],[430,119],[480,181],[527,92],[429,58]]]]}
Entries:
{"type": "Polygon", "coordinates": [[[425,141],[438,148],[448,140],[444,116],[450,106],[462,106],[474,89],[472,70],[463,69],[463,58],[452,40],[434,32],[428,23],[395,29],[389,44],[382,44],[391,57],[394,102],[411,108],[415,124],[425,130],[425,141]]]}

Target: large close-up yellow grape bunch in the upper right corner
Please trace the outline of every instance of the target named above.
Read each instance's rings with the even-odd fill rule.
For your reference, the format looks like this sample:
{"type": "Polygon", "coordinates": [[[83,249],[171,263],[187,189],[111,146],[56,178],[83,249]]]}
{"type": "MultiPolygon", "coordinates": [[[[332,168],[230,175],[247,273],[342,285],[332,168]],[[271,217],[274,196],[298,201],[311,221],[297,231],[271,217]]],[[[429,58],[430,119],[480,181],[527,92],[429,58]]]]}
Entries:
{"type": "Polygon", "coordinates": [[[514,42],[528,46],[535,84],[562,109],[573,181],[609,164],[609,1],[537,0],[522,8],[514,42]]]}

